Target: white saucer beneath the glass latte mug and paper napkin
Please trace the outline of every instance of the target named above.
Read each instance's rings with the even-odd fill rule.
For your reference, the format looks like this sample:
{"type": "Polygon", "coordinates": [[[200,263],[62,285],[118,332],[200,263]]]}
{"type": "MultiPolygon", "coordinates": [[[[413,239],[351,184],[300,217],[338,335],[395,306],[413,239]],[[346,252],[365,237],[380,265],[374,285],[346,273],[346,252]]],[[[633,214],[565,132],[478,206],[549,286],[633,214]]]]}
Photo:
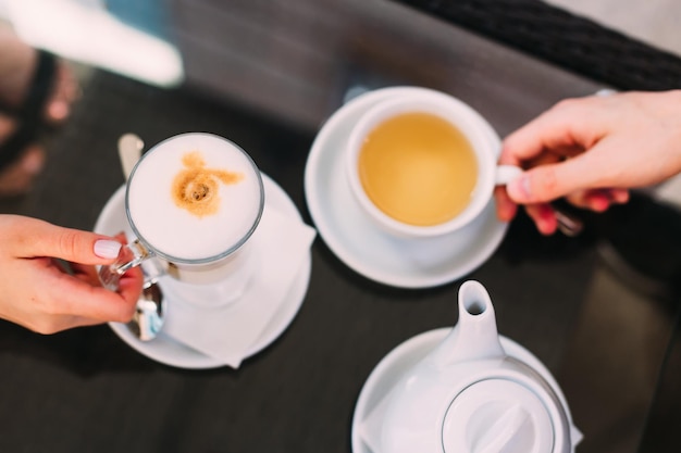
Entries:
{"type": "MultiPolygon", "coordinates": [[[[264,185],[267,205],[272,206],[284,215],[302,221],[294,202],[276,183],[264,174],[262,174],[262,183],[264,185]]],[[[125,229],[126,223],[125,186],[123,186],[114,192],[104,205],[95,225],[95,231],[104,235],[115,235],[125,229]]],[[[308,254],[288,294],[284,298],[283,303],[272,316],[272,319],[263,328],[262,335],[250,347],[244,358],[260,352],[272,343],[293,322],[305,299],[310,281],[311,269],[312,256],[308,254]]],[[[172,310],[172,307],[169,307],[169,310],[172,310]]],[[[163,335],[162,331],[152,341],[144,342],[132,335],[124,324],[110,323],[109,325],[113,331],[133,349],[163,364],[181,368],[213,368],[224,366],[224,364],[215,358],[209,357],[175,341],[163,335]]]]}

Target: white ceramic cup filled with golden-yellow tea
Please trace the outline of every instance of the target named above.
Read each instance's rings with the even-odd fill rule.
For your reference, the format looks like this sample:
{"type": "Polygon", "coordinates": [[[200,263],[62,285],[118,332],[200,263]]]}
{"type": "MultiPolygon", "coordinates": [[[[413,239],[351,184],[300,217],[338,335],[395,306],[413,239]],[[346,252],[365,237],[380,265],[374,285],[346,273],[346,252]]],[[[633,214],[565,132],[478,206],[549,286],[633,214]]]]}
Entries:
{"type": "Polygon", "coordinates": [[[497,165],[499,139],[472,108],[420,89],[380,101],[360,116],[346,147],[350,191],[383,230],[433,238],[465,227],[494,187],[522,172],[497,165]]]}

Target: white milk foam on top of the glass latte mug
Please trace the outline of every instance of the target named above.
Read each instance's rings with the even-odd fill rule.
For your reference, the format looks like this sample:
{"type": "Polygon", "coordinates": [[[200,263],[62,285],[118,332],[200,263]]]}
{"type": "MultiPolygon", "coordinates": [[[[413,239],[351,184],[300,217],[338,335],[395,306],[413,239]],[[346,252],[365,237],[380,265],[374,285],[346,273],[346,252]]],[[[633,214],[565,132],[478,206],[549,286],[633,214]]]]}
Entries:
{"type": "Polygon", "coordinates": [[[143,241],[170,261],[187,262],[207,261],[240,246],[260,218],[261,200],[260,174],[244,151],[218,136],[185,134],[145,153],[131,175],[126,206],[143,241]],[[173,183],[186,171],[183,159],[189,153],[200,155],[206,168],[240,175],[232,184],[215,184],[219,199],[210,215],[195,215],[173,199],[173,183]]]}

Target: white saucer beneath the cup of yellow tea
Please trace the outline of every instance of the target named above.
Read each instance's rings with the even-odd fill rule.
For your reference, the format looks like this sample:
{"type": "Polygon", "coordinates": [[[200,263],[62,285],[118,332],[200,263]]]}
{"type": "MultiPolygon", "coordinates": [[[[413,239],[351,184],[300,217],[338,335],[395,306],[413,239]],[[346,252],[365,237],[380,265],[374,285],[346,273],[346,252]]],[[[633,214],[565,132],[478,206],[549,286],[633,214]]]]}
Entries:
{"type": "MultiPolygon", "coordinates": [[[[317,135],[305,169],[310,215],[329,248],[357,273],[401,288],[428,288],[466,276],[494,253],[508,227],[497,219],[494,200],[463,229],[428,240],[388,237],[360,211],[343,171],[350,129],[377,101],[416,90],[425,88],[384,88],[349,101],[317,135]]],[[[490,139],[499,140],[492,129],[490,139]]]]}

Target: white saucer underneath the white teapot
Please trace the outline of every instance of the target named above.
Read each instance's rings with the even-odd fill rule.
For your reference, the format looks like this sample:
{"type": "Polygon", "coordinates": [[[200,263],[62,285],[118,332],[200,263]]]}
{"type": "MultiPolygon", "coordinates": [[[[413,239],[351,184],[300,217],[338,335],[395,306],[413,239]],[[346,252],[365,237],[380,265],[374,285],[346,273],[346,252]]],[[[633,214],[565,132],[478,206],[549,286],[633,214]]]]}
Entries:
{"type": "MultiPolygon", "coordinates": [[[[450,327],[434,329],[416,337],[410,338],[397,348],[392,350],[379,364],[373,368],[369,378],[364,382],[362,390],[357,399],[355,413],[352,414],[351,446],[352,453],[380,453],[373,452],[361,439],[360,426],[364,419],[371,414],[376,405],[393,389],[399,378],[411,367],[413,367],[421,358],[428,355],[443,339],[451,331],[450,327]]],[[[566,407],[568,417],[571,420],[568,403],[558,387],[558,382],[552,376],[549,370],[536,358],[530,351],[515,342],[513,340],[499,336],[499,341],[504,351],[509,356],[516,357],[534,368],[554,389],[558,399],[566,407]]],[[[580,435],[581,436],[581,435],[580,435]]]]}

